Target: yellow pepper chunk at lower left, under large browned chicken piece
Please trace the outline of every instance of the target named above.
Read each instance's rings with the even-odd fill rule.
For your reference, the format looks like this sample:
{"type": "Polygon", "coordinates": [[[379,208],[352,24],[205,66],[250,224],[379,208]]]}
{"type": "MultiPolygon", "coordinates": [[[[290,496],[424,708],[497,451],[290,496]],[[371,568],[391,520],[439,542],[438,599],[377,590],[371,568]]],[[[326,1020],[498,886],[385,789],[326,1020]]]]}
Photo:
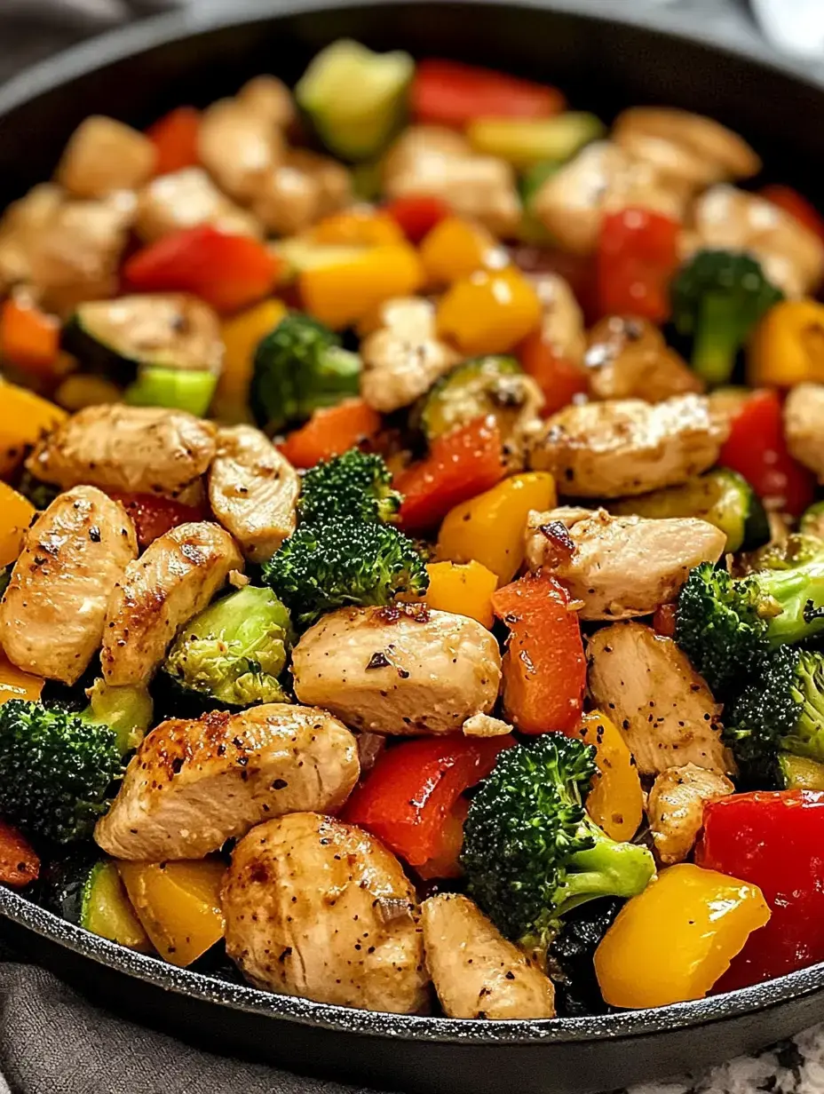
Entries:
{"type": "Polygon", "coordinates": [[[224,863],[118,862],[117,869],[146,933],[170,964],[190,965],[223,936],[224,863]]]}

